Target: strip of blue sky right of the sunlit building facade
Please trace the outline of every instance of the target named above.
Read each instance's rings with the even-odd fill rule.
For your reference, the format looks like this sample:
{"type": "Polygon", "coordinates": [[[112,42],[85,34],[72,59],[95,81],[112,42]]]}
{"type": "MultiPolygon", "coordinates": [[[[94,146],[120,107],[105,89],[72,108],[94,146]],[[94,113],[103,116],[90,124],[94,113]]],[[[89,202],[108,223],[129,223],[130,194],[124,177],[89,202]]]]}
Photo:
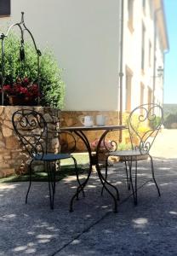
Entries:
{"type": "Polygon", "coordinates": [[[164,0],[169,52],[165,55],[164,103],[177,104],[177,0],[164,0]]]}

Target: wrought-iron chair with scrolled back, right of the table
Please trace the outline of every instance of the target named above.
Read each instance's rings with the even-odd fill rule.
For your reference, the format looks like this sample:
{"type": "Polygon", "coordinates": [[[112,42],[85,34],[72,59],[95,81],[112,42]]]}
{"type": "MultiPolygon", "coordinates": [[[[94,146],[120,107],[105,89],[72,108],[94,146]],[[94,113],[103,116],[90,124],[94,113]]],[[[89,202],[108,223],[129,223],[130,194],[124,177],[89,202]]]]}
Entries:
{"type": "MultiPolygon", "coordinates": [[[[151,145],[157,137],[157,133],[163,124],[163,108],[157,104],[140,105],[128,116],[128,132],[131,143],[130,150],[109,152],[106,158],[106,178],[108,169],[108,160],[110,156],[118,156],[125,163],[126,176],[128,182],[128,189],[132,188],[134,195],[134,204],[137,204],[137,166],[138,159],[142,156],[148,156],[151,160],[151,174],[153,182],[157,187],[158,195],[160,190],[158,188],[155,176],[153,159],[150,154],[151,145]],[[145,128],[146,127],[146,128],[145,128]],[[136,143],[135,143],[135,138],[136,143]],[[134,183],[132,177],[133,162],[135,163],[134,183]]],[[[102,190],[103,192],[103,190],[102,190]]]]}

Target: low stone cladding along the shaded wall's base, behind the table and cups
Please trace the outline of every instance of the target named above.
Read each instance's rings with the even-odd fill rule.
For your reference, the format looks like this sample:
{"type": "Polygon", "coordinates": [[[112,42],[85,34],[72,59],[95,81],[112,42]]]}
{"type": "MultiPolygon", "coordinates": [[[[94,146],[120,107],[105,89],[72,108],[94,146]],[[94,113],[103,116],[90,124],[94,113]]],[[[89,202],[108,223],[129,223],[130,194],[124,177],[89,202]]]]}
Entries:
{"type": "MultiPolygon", "coordinates": [[[[81,126],[79,117],[85,115],[91,115],[94,118],[94,123],[96,119],[96,115],[103,114],[106,116],[106,125],[118,125],[118,112],[117,111],[63,111],[61,112],[61,127],[69,127],[69,126],[81,126]]],[[[90,143],[93,143],[96,139],[100,137],[103,131],[85,131],[87,134],[88,140],[90,143]]],[[[77,152],[86,151],[86,148],[82,142],[82,140],[78,137],[75,137],[77,141],[77,152]]],[[[110,132],[106,140],[116,140],[118,141],[119,131],[110,132]]],[[[67,144],[68,148],[73,146],[73,139],[71,136],[66,135],[63,137],[61,142],[61,146],[67,144]]]]}

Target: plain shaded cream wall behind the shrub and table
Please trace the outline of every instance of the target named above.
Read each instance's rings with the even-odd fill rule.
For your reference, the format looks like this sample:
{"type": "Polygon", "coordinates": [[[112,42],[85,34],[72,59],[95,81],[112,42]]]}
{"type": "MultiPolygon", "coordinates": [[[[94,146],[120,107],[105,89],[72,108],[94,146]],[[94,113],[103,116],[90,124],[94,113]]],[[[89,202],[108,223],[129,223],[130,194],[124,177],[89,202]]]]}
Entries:
{"type": "Polygon", "coordinates": [[[11,17],[54,49],[66,82],[65,110],[117,110],[119,0],[11,0],[11,17]]]}

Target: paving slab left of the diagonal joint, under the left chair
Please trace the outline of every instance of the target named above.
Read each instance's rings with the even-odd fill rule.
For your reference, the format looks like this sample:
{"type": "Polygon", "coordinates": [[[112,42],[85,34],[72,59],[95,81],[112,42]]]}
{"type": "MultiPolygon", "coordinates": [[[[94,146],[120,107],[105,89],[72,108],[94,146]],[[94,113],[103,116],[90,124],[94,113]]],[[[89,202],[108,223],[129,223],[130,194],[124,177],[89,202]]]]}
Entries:
{"type": "Polygon", "coordinates": [[[29,203],[25,205],[26,185],[1,184],[0,255],[50,255],[107,211],[104,202],[100,205],[98,200],[92,201],[94,192],[69,212],[74,183],[68,180],[57,186],[54,211],[49,209],[48,183],[32,183],[29,203]]]}

